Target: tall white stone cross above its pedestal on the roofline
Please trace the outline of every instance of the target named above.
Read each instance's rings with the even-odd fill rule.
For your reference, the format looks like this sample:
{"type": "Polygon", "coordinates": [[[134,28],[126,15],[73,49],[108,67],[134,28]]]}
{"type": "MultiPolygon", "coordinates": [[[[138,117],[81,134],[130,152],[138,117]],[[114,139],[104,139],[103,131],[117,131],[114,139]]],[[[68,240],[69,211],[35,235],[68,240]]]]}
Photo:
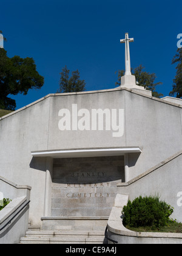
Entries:
{"type": "Polygon", "coordinates": [[[134,41],[133,38],[128,38],[128,33],[125,33],[125,39],[120,40],[120,43],[125,43],[125,74],[124,75],[131,75],[129,42],[133,42],[133,41],[134,41]]]}

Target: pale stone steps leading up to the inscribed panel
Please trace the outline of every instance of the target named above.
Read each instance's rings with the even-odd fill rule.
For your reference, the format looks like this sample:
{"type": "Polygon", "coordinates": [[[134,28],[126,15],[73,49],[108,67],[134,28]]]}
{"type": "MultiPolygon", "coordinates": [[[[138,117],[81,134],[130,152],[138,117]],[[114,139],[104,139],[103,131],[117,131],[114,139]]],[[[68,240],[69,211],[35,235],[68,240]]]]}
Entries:
{"type": "Polygon", "coordinates": [[[107,218],[42,218],[42,229],[29,225],[21,244],[107,244],[107,218]]]}

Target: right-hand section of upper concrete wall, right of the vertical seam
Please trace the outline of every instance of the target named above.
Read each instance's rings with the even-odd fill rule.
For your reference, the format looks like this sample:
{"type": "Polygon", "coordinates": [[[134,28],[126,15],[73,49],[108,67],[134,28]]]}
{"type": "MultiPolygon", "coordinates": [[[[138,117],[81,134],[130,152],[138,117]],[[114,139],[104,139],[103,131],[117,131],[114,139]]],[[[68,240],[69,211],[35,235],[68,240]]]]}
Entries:
{"type": "Polygon", "coordinates": [[[142,153],[129,154],[130,179],[182,150],[182,108],[141,95],[125,93],[126,145],[142,153]]]}

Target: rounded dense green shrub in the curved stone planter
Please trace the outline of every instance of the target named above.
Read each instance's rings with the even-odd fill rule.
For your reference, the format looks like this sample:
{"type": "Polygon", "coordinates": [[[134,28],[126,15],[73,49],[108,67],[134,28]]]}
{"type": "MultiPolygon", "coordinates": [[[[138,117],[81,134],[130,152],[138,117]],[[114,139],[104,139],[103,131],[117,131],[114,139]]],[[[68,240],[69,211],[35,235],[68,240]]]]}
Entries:
{"type": "Polygon", "coordinates": [[[123,207],[123,224],[130,227],[162,227],[166,226],[173,208],[158,196],[140,196],[123,207]]]}

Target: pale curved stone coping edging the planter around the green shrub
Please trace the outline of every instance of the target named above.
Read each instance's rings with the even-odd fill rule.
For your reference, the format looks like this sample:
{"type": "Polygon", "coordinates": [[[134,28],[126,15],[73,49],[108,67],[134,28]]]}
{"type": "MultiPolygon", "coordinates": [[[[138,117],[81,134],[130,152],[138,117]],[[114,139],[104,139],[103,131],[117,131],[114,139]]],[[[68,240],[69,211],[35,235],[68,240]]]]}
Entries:
{"type": "MultiPolygon", "coordinates": [[[[123,206],[127,204],[129,195],[117,194],[115,198],[115,205],[112,207],[112,211],[107,222],[107,227],[110,232],[119,236],[127,237],[141,237],[141,238],[181,238],[181,233],[169,233],[169,232],[135,232],[123,226],[121,218],[121,211],[123,206]]],[[[182,243],[182,240],[181,240],[182,243]]]]}

